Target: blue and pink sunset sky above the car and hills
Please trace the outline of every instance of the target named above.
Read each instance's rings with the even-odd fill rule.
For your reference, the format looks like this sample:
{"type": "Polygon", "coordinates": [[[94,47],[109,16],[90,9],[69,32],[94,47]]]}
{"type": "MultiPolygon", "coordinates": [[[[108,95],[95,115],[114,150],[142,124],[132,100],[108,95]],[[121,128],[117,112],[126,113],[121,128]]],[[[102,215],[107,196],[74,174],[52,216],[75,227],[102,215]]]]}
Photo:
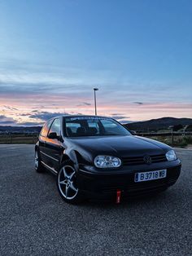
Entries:
{"type": "Polygon", "coordinates": [[[191,0],[1,0],[0,125],[192,117],[191,0]]]}

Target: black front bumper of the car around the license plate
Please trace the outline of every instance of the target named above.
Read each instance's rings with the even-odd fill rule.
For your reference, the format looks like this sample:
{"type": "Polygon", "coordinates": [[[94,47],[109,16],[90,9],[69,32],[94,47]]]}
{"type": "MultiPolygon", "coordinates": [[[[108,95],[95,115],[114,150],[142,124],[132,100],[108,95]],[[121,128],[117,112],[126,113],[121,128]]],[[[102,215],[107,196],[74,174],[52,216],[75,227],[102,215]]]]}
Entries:
{"type": "Polygon", "coordinates": [[[89,198],[110,199],[117,190],[123,197],[142,196],[159,192],[176,183],[181,172],[181,162],[166,161],[139,166],[122,166],[118,170],[98,170],[94,166],[81,166],[78,172],[78,188],[89,198]],[[134,174],[150,170],[167,169],[167,177],[140,183],[134,182],[134,174]]]}

